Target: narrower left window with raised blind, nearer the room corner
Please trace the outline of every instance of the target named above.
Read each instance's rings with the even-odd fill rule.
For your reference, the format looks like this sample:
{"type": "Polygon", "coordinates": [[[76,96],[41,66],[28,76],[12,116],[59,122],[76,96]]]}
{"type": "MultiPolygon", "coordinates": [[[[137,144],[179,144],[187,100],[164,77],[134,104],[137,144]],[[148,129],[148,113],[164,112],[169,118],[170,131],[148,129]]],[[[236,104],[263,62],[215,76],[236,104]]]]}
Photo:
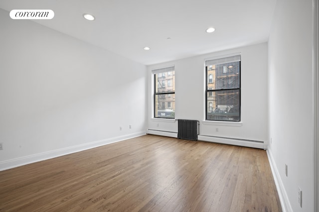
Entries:
{"type": "Polygon", "coordinates": [[[154,117],[175,118],[174,67],[152,70],[154,75],[154,117]],[[167,86],[165,86],[167,84],[167,86]]]}

